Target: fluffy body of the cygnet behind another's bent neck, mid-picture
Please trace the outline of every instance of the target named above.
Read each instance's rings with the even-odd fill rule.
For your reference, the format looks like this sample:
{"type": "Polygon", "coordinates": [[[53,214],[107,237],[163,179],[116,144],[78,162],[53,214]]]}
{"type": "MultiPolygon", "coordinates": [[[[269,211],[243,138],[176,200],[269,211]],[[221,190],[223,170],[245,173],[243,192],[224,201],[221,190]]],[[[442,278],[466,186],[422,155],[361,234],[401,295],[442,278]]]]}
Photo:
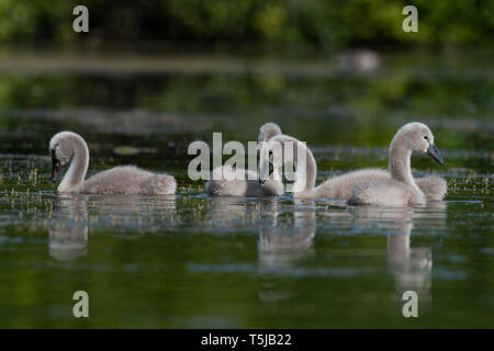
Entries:
{"type": "Polygon", "coordinates": [[[259,177],[255,171],[234,170],[232,166],[221,166],[213,170],[204,192],[210,196],[245,197],[279,196],[283,194],[284,186],[277,169],[273,169],[265,184],[260,184],[258,179],[259,177]]]}

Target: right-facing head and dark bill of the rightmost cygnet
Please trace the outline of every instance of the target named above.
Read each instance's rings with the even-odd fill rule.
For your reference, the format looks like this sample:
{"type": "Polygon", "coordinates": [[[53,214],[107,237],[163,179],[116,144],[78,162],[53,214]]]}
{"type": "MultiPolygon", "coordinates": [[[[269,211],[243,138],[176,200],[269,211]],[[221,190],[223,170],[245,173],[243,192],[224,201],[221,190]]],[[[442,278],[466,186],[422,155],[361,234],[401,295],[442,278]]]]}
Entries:
{"type": "Polygon", "coordinates": [[[442,156],[434,144],[434,135],[424,123],[407,123],[397,131],[393,143],[404,144],[412,151],[423,151],[439,165],[444,165],[442,156]]]}

